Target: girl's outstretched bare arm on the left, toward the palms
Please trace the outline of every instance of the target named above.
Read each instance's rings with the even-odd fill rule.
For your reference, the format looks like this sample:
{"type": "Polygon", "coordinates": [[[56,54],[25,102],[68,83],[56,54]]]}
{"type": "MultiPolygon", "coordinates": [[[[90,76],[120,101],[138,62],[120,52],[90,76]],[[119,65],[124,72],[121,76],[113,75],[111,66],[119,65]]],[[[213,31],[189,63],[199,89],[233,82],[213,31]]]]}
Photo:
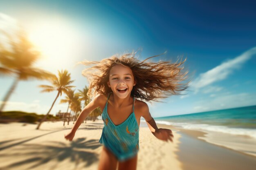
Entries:
{"type": "MultiPolygon", "coordinates": [[[[79,126],[82,124],[83,120],[88,117],[88,115],[97,107],[101,106],[103,102],[106,100],[106,97],[104,95],[97,95],[92,102],[90,102],[88,105],[83,108],[81,113],[79,114],[79,117],[76,119],[76,123],[74,124],[73,128],[67,135],[65,135],[65,139],[72,141],[76,130],[79,128],[79,126]]],[[[106,101],[105,101],[106,102],[106,101]]]]}

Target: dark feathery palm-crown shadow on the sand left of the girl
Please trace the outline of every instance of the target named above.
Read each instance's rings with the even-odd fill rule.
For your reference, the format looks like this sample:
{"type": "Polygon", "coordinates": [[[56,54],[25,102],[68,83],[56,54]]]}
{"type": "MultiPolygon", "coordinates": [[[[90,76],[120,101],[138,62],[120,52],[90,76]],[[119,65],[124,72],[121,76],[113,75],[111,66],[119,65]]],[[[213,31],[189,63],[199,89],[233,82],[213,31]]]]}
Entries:
{"type": "MultiPolygon", "coordinates": [[[[75,163],[75,167],[83,163],[84,167],[92,165],[98,161],[98,154],[94,153],[93,150],[99,148],[98,140],[91,139],[86,141],[86,138],[79,138],[72,141],[69,144],[63,142],[49,141],[45,144],[23,144],[21,148],[17,148],[14,152],[0,154],[0,157],[9,157],[15,160],[17,156],[28,157],[28,159],[22,161],[16,161],[8,166],[1,167],[3,169],[17,168],[27,163],[33,163],[28,169],[38,168],[49,161],[56,160],[62,162],[65,159],[69,159],[70,163],[75,163]],[[24,153],[20,150],[26,150],[24,153]]],[[[56,165],[58,165],[56,162],[56,165]]],[[[54,169],[52,167],[52,169],[54,169]]]]}

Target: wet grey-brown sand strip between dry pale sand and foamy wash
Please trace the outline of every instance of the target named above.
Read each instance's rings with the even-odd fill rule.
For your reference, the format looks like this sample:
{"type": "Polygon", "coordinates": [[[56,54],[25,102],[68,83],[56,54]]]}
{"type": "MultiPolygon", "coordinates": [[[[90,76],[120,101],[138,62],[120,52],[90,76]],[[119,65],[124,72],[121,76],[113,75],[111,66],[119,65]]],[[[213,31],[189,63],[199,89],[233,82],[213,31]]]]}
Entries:
{"type": "Polygon", "coordinates": [[[178,130],[181,135],[178,148],[179,161],[183,170],[254,170],[256,157],[243,152],[211,144],[200,137],[207,135],[198,130],[187,130],[179,127],[157,124],[159,128],[178,130]]]}

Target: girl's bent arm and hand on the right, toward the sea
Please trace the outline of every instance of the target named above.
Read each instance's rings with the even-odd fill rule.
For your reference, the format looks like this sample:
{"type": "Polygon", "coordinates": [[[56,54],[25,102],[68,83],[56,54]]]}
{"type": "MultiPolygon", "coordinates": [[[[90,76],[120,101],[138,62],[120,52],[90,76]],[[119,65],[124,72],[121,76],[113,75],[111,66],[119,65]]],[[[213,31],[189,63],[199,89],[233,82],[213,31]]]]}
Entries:
{"type": "Polygon", "coordinates": [[[155,123],[155,120],[150,115],[148,105],[146,103],[143,104],[141,107],[141,113],[142,117],[146,120],[146,123],[148,124],[148,128],[152,132],[152,134],[160,140],[168,141],[170,140],[173,142],[173,133],[170,129],[164,129],[164,128],[157,128],[157,124],[155,123]]]}

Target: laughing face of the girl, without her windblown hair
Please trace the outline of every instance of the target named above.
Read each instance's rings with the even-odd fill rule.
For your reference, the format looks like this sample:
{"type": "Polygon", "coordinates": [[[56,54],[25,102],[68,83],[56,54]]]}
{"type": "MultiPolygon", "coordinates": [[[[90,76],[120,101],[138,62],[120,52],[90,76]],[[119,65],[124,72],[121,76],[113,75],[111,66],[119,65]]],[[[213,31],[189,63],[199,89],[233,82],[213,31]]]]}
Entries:
{"type": "Polygon", "coordinates": [[[119,98],[124,99],[130,96],[135,84],[132,70],[129,67],[117,64],[110,68],[108,87],[119,98]]]}

